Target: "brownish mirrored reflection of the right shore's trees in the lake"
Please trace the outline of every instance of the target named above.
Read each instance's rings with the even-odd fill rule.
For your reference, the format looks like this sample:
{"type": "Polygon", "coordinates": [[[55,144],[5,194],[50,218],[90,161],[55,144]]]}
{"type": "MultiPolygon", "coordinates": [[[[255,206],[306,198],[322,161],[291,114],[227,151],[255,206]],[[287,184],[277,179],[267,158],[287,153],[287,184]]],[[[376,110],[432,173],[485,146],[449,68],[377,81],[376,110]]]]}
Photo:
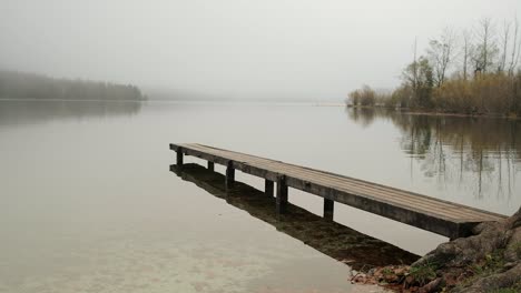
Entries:
{"type": "Polygon", "coordinates": [[[391,121],[401,132],[400,146],[420,162],[424,176],[440,186],[471,186],[476,199],[511,198],[521,161],[521,122],[505,119],[405,114],[383,109],[346,109],[363,127],[391,121]]]}

